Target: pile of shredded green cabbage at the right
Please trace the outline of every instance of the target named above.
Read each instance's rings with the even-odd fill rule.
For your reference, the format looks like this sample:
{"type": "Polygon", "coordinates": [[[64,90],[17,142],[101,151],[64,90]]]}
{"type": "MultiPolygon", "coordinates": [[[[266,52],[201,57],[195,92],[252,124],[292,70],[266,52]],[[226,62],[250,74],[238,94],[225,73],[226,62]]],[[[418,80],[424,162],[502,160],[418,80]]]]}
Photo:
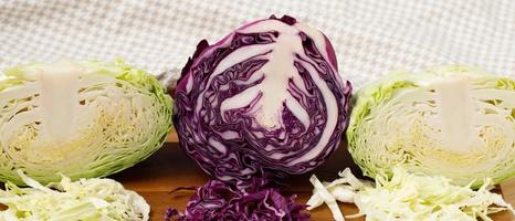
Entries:
{"type": "Polygon", "coordinates": [[[401,167],[393,168],[391,179],[385,175],[376,176],[375,186],[358,180],[348,168],[339,176],[341,178],[330,183],[324,182],[323,186],[316,176],[312,177],[315,189],[307,201],[308,210],[325,202],[333,213],[341,213],[335,200],[354,202],[359,213],[346,218],[366,215],[367,221],[469,221],[479,218],[490,221],[491,213],[504,210],[514,212],[501,194],[490,191],[491,179],[485,179],[479,190],[473,190],[473,182],[465,187],[455,186],[451,179],[410,173],[401,167]]]}

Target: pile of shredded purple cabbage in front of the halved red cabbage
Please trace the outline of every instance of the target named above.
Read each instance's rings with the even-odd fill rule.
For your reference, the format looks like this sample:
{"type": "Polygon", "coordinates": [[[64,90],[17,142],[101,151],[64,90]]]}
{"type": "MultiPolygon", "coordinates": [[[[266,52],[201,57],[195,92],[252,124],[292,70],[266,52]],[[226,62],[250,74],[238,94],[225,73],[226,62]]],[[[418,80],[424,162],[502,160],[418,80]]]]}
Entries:
{"type": "Polygon", "coordinates": [[[211,180],[197,188],[186,212],[168,209],[166,221],[306,221],[305,204],[295,203],[295,196],[283,197],[276,189],[255,179],[253,186],[239,188],[220,180],[211,180]]]}

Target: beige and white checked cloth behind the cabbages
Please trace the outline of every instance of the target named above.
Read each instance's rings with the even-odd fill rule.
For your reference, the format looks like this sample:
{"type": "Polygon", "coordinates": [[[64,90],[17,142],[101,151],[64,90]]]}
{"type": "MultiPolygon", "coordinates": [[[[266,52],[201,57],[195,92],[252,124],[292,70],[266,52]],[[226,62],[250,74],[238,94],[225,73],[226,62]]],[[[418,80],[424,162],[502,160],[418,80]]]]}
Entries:
{"type": "Polygon", "coordinates": [[[120,56],[177,77],[201,39],[213,43],[270,14],[322,30],[357,87],[442,64],[515,76],[513,0],[0,0],[0,70],[120,56]]]}

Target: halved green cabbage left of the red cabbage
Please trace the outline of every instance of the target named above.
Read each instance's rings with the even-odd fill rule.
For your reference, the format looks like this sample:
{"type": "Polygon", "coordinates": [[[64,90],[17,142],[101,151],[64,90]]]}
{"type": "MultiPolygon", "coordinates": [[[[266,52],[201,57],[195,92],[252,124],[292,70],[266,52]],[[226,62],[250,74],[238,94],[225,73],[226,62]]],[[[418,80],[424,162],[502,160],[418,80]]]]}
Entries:
{"type": "Polygon", "coordinates": [[[30,64],[0,80],[0,181],[104,177],[150,156],[171,127],[159,82],[122,61],[30,64]]]}

